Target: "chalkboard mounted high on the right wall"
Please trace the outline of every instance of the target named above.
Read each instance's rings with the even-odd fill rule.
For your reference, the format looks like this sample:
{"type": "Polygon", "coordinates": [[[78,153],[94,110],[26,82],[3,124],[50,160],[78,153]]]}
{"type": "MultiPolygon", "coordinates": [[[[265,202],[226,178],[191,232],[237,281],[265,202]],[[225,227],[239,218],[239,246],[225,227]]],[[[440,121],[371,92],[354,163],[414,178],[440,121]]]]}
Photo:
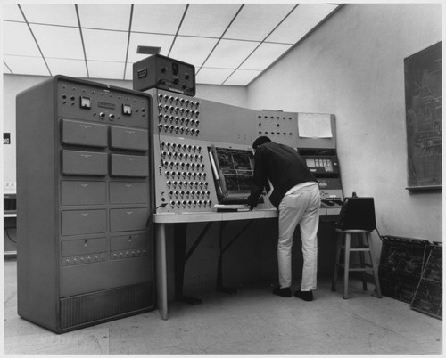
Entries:
{"type": "Polygon", "coordinates": [[[442,188],[442,42],[404,59],[408,188],[442,188]]]}

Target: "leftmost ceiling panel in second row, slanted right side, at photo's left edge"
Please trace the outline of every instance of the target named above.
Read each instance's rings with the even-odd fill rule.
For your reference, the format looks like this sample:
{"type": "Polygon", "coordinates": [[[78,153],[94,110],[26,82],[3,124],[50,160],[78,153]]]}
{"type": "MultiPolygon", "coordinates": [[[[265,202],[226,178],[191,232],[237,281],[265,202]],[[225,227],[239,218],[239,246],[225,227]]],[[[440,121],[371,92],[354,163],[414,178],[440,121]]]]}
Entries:
{"type": "Polygon", "coordinates": [[[24,22],[3,22],[3,51],[19,56],[41,56],[29,27],[24,22]]]}

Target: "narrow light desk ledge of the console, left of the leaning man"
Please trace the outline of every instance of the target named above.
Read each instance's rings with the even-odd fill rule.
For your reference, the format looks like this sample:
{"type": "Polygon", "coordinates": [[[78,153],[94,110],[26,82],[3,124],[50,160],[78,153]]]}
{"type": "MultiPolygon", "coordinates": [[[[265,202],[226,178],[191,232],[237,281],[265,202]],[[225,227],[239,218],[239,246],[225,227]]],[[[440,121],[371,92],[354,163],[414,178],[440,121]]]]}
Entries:
{"type": "Polygon", "coordinates": [[[194,213],[160,213],[153,214],[153,223],[202,223],[208,221],[233,221],[233,220],[251,220],[268,219],[277,217],[276,209],[238,211],[238,212],[194,212],[194,213]]]}

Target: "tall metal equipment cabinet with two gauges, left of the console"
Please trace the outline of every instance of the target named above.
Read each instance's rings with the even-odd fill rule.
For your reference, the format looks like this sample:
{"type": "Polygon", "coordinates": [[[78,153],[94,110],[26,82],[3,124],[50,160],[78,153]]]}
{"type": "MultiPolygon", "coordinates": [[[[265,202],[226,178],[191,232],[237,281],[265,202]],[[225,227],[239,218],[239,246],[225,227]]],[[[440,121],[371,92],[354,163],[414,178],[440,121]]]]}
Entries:
{"type": "Polygon", "coordinates": [[[150,95],[56,76],[16,105],[19,315],[62,333],[152,310],[150,95]]]}

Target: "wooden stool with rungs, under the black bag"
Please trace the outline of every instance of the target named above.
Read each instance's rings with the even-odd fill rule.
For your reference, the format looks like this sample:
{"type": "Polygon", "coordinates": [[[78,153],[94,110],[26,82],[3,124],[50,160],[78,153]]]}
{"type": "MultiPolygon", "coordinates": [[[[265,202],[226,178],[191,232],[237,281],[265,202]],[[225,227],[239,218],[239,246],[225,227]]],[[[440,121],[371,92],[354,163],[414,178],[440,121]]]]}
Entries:
{"type": "Polygon", "coordinates": [[[335,259],[335,273],[332,282],[332,291],[336,290],[336,281],[339,266],[343,267],[343,298],[347,299],[349,290],[349,272],[359,271],[362,272],[362,289],[367,291],[366,270],[368,267],[372,268],[373,277],[375,278],[376,296],[381,298],[381,288],[379,286],[378,270],[373,260],[372,254],[372,239],[368,230],[341,230],[336,229],[337,234],[337,247],[336,247],[336,259],[335,259]],[[351,248],[351,238],[357,237],[358,246],[351,248]],[[343,239],[345,244],[343,245],[343,239]],[[365,239],[365,241],[364,241],[365,239]],[[344,249],[343,263],[339,262],[341,256],[341,249],[344,249]],[[359,265],[350,265],[350,253],[359,252],[359,265]],[[364,259],[364,253],[368,252],[370,258],[370,264],[366,264],[364,259]]]}

